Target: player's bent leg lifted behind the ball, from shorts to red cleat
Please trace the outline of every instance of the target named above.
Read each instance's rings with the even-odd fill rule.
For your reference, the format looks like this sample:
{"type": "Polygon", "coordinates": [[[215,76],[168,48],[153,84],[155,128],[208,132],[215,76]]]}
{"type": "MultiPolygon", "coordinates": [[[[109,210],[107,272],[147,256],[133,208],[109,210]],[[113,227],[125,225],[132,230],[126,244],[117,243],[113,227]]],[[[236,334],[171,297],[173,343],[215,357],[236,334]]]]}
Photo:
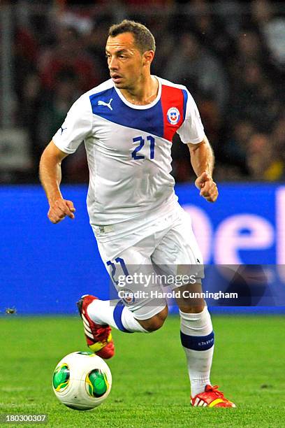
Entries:
{"type": "Polygon", "coordinates": [[[166,300],[154,300],[149,292],[161,292],[160,285],[145,283],[143,279],[152,278],[154,273],[149,257],[153,243],[151,236],[144,238],[112,260],[105,256],[105,248],[98,246],[112,283],[122,298],[121,301],[102,301],[87,294],[78,302],[87,345],[99,357],[110,358],[114,355],[110,326],[128,333],[147,333],[159,329],[166,319],[166,300]],[[125,283],[126,276],[133,278],[131,283],[125,283]]]}

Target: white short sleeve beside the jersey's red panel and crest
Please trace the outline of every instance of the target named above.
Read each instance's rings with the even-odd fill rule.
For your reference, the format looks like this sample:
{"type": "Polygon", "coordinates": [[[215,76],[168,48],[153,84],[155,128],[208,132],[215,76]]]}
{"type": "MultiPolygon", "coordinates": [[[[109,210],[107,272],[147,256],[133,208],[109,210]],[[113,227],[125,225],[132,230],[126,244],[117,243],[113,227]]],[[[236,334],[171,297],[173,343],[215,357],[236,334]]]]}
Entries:
{"type": "Polygon", "coordinates": [[[204,127],[200,119],[198,107],[191,94],[187,91],[187,106],[185,120],[177,129],[182,143],[200,143],[205,137],[204,127]]]}

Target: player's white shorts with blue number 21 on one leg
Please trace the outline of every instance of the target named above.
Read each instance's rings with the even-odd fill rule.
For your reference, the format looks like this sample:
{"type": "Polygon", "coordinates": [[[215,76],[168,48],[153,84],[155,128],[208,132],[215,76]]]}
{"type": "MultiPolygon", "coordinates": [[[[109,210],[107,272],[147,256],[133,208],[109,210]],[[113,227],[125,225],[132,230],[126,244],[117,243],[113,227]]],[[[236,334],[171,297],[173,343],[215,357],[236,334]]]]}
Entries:
{"type": "Polygon", "coordinates": [[[138,320],[147,320],[165,308],[170,289],[201,282],[203,258],[191,217],[180,206],[147,228],[137,226],[136,243],[133,234],[97,241],[119,298],[138,320]]]}

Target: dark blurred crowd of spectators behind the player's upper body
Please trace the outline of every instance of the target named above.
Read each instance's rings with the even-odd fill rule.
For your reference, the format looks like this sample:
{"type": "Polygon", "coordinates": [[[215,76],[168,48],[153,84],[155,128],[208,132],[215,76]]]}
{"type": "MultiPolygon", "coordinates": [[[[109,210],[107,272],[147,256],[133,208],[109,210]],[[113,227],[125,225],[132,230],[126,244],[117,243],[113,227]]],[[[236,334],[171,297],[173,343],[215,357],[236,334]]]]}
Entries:
{"type": "MultiPolygon", "coordinates": [[[[42,1],[43,9],[29,9],[29,3],[20,2],[13,21],[13,116],[28,130],[32,157],[17,180],[37,180],[41,152],[73,101],[109,78],[106,35],[124,17],[146,24],[156,38],[152,73],[186,85],[196,100],[216,155],[216,180],[284,180],[281,3],[131,0],[77,7],[73,1],[42,1]]],[[[83,145],[63,168],[68,183],[88,180],[83,145]]],[[[178,136],[173,175],[177,182],[193,178],[178,136]]]]}

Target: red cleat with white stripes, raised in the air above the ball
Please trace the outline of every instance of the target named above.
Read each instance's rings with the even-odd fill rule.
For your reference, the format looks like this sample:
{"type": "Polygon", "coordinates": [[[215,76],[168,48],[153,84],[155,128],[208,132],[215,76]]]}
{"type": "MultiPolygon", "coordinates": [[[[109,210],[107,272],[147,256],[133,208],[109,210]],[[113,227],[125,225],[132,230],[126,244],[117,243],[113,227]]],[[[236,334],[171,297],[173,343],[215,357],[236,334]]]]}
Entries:
{"type": "Polygon", "coordinates": [[[96,324],[89,318],[87,313],[88,305],[97,297],[85,294],[77,302],[78,311],[83,321],[85,338],[87,345],[98,357],[111,358],[115,353],[114,342],[112,341],[111,327],[108,324],[96,324]]]}

